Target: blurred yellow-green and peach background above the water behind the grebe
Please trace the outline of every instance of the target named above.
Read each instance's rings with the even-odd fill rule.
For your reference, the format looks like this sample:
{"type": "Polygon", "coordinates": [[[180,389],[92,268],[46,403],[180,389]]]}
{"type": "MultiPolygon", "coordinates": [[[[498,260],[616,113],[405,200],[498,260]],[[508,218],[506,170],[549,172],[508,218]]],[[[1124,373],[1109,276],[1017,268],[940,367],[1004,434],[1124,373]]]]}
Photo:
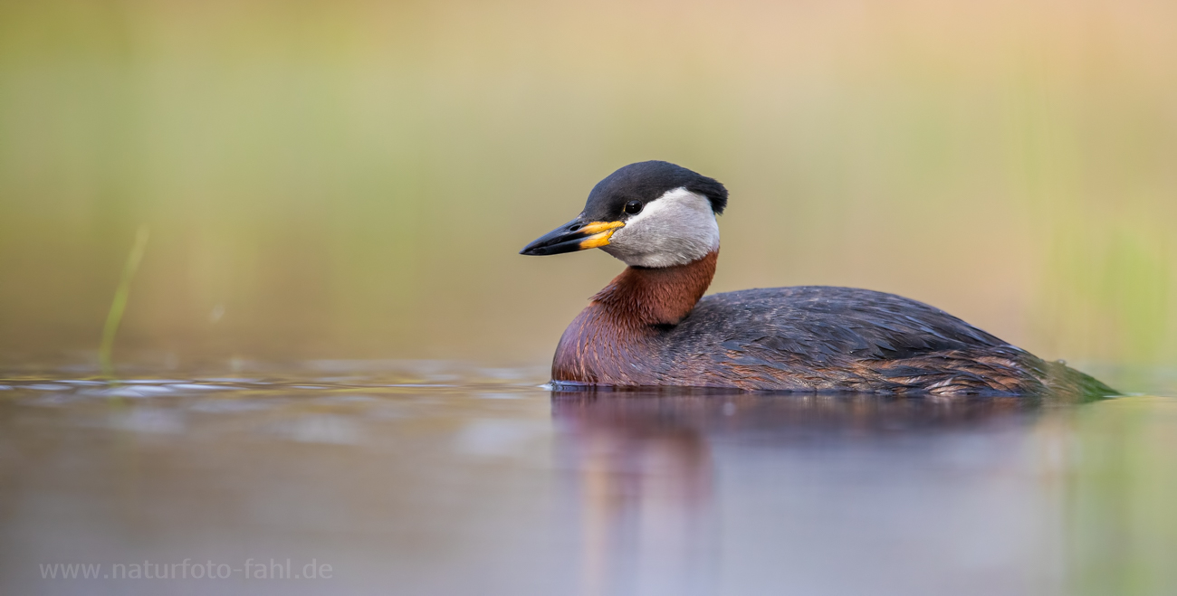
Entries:
{"type": "Polygon", "coordinates": [[[0,361],[543,363],[599,179],[725,182],[713,290],[904,294],[1177,361],[1177,5],[0,2],[0,361]]]}

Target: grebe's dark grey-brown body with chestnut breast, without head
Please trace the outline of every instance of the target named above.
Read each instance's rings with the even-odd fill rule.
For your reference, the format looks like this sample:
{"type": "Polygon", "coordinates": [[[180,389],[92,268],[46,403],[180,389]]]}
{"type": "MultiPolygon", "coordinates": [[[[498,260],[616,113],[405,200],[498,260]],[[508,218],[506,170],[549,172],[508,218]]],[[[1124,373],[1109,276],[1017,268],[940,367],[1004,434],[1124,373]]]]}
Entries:
{"type": "Polygon", "coordinates": [[[657,296],[684,295],[673,286],[710,276],[654,272],[630,269],[594,296],[560,340],[553,381],[977,395],[1106,389],[943,310],[866,289],[712,294],[674,322],[683,304],[663,304],[657,296]]]}

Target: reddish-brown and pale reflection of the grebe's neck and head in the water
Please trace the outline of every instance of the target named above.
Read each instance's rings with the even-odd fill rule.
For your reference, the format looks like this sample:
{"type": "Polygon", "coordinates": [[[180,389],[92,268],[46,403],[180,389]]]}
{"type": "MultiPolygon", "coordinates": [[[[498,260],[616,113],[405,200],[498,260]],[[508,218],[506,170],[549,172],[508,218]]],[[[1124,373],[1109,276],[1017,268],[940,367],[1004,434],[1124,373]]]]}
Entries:
{"type": "Polygon", "coordinates": [[[657,399],[552,393],[558,467],[574,471],[568,501],[581,511],[585,596],[716,592],[711,446],[691,415],[703,408],[681,391],[659,411],[641,407],[657,399]]]}

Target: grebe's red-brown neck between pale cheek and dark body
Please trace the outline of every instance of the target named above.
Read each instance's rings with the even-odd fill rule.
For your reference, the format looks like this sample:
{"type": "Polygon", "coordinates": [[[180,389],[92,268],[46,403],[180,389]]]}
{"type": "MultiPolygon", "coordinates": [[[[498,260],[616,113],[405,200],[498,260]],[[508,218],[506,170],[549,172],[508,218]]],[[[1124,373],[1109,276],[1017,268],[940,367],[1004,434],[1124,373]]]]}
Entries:
{"type": "Polygon", "coordinates": [[[707,292],[716,275],[719,249],[698,261],[676,267],[629,267],[592,297],[620,321],[636,324],[677,324],[707,292]]]}

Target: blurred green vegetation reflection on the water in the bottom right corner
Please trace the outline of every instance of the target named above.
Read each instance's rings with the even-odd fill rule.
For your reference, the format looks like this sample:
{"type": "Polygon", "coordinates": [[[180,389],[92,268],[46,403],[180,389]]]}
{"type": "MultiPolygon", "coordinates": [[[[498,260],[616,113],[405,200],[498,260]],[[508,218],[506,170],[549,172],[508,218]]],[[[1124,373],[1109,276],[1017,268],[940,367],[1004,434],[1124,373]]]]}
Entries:
{"type": "Polygon", "coordinates": [[[1129,397],[1091,406],[1062,426],[1069,594],[1159,595],[1177,587],[1175,423],[1173,400],[1129,397]]]}

